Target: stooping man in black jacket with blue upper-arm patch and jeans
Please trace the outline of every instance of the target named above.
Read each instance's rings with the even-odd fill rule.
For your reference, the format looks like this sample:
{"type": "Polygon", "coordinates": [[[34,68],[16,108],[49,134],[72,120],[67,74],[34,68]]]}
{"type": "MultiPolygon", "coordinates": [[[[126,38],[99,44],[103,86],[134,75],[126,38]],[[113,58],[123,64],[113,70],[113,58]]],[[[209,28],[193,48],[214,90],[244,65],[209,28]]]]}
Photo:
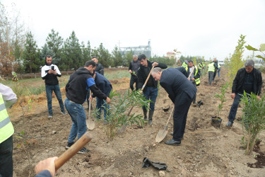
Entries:
{"type": "MultiPolygon", "coordinates": [[[[90,60],[86,62],[85,67],[81,67],[71,74],[66,84],[66,99],[64,105],[73,122],[66,149],[69,149],[74,143],[73,141],[76,139],[76,135],[79,139],[86,133],[86,113],[82,104],[86,101],[88,89],[98,98],[106,100],[107,103],[111,101],[110,98],[108,98],[105,93],[102,93],[95,85],[95,81],[91,76],[94,70],[95,62],[90,60]]],[[[83,147],[78,153],[86,154],[87,152],[89,152],[89,150],[83,147]]]]}

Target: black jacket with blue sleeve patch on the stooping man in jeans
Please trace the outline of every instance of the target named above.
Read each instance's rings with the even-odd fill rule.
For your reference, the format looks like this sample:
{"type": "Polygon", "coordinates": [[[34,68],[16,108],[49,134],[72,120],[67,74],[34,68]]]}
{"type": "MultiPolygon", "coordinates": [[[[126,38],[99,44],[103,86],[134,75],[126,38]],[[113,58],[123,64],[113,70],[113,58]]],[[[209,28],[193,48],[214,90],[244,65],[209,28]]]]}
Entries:
{"type": "Polygon", "coordinates": [[[83,104],[86,101],[88,89],[98,98],[107,99],[107,96],[95,85],[95,81],[88,69],[81,67],[71,74],[65,86],[66,97],[75,103],[83,104]]]}

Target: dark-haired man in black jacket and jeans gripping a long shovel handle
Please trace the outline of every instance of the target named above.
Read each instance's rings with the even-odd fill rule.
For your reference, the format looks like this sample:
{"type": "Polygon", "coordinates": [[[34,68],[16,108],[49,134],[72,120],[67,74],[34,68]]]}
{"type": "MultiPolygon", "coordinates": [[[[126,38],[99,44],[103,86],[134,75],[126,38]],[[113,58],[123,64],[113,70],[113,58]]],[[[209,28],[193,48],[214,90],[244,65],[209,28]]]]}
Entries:
{"type": "MultiPolygon", "coordinates": [[[[141,66],[138,69],[138,80],[139,80],[139,86],[138,89],[141,89],[143,87],[143,84],[145,83],[148,74],[151,72],[151,69],[153,66],[160,67],[162,69],[166,69],[167,65],[163,63],[157,63],[157,62],[150,62],[146,55],[139,55],[138,57],[141,66]]],[[[146,98],[146,100],[151,100],[152,103],[150,103],[150,110],[149,110],[149,116],[148,116],[148,122],[151,125],[153,120],[153,112],[155,111],[155,100],[158,97],[158,81],[155,81],[153,79],[153,76],[150,76],[148,79],[146,86],[143,89],[143,96],[146,98]]],[[[147,110],[146,107],[143,106],[143,115],[144,120],[147,120],[147,110]]]]}

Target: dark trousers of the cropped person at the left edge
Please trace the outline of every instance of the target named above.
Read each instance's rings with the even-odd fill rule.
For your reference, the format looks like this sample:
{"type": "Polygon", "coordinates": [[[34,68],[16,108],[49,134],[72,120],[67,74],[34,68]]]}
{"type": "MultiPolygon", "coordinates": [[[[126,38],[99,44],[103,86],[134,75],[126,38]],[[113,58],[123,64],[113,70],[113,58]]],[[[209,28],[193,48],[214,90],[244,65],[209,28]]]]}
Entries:
{"type": "Polygon", "coordinates": [[[13,176],[13,135],[0,144],[0,176],[13,176]]]}

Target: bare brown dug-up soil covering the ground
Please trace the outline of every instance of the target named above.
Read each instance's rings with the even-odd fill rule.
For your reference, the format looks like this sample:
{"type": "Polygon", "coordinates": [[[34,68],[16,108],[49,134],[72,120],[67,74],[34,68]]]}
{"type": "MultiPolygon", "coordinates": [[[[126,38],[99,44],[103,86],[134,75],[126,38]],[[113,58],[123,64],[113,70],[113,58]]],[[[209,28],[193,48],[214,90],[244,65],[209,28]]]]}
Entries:
{"type": "MultiPolygon", "coordinates": [[[[143,128],[127,127],[123,134],[109,141],[104,132],[105,125],[96,122],[95,129],[90,131],[93,139],[86,145],[91,152],[73,156],[59,169],[57,176],[159,176],[159,171],[153,167],[141,168],[144,157],[167,164],[167,170],[163,171],[165,176],[265,176],[264,167],[257,169],[248,166],[257,162],[254,155],[258,154],[254,152],[252,156],[246,156],[245,150],[240,149],[240,140],[243,136],[240,122],[236,121],[231,129],[225,127],[232,104],[230,89],[225,94],[227,102],[220,116],[223,118],[222,125],[220,128],[211,125],[211,117],[216,114],[219,103],[213,96],[220,93],[220,87],[228,81],[224,69],[221,73],[223,76],[216,79],[215,86],[208,86],[207,77],[201,79],[201,86],[197,87],[197,101],[203,101],[204,105],[200,108],[191,106],[189,109],[187,128],[181,146],[172,147],[164,144],[165,140],[172,138],[172,120],[163,142],[155,143],[158,131],[164,128],[170,115],[170,111],[164,113],[162,108],[170,105],[171,101],[165,90],[160,88],[153,125],[146,125],[143,128]]],[[[128,79],[124,79],[124,82],[129,88],[128,79]]],[[[119,93],[124,91],[126,90],[119,90],[119,93]]],[[[62,96],[65,98],[63,89],[62,96]]],[[[30,110],[26,109],[27,105],[24,108],[24,124],[18,106],[9,110],[16,133],[13,149],[14,171],[16,176],[29,176],[29,173],[33,176],[33,172],[30,172],[33,167],[29,164],[28,156],[32,166],[47,157],[60,156],[66,150],[64,147],[71,129],[71,118],[69,115],[61,115],[59,103],[54,98],[54,117],[48,120],[45,94],[35,98],[30,110]],[[18,148],[23,141],[17,136],[21,131],[26,132],[25,148],[28,155],[23,146],[18,148]]],[[[133,111],[141,113],[141,108],[134,108],[133,111]]],[[[237,118],[240,115],[239,108],[237,118]]],[[[259,148],[263,153],[264,137],[265,132],[261,132],[259,148]]],[[[160,175],[163,176],[163,173],[160,172],[160,175]]]]}

